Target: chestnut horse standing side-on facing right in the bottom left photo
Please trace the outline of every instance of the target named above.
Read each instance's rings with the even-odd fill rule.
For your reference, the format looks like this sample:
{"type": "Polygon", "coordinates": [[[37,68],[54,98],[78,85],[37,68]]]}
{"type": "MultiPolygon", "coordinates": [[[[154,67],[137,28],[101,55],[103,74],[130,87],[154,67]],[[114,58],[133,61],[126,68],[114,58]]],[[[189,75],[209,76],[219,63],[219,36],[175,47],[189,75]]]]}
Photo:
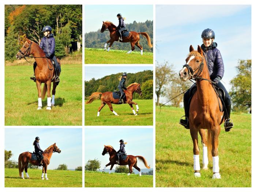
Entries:
{"type": "MultiPolygon", "coordinates": [[[[44,180],[44,172],[45,172],[45,179],[48,180],[47,178],[47,166],[50,163],[50,158],[52,157],[52,153],[57,152],[60,153],[61,150],[57,147],[56,143],[52,144],[50,147],[48,147],[44,153],[42,153],[44,159],[42,161],[43,164],[43,170],[42,170],[42,180],[44,180]]],[[[29,178],[29,174],[27,173],[27,167],[29,163],[32,165],[38,165],[39,161],[38,160],[32,160],[32,153],[30,152],[23,152],[19,155],[19,176],[24,179],[23,176],[23,170],[25,169],[27,178],[29,178]]]]}

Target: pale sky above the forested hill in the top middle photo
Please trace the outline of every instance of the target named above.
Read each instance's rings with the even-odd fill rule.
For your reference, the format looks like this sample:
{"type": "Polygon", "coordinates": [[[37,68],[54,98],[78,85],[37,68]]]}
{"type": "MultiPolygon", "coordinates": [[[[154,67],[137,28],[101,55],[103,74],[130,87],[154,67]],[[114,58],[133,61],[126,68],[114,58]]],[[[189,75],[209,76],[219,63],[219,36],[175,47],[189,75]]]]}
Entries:
{"type": "Polygon", "coordinates": [[[118,13],[126,18],[125,23],[153,20],[153,5],[85,5],[84,12],[85,33],[101,29],[102,21],[106,20],[118,25],[118,13]]]}

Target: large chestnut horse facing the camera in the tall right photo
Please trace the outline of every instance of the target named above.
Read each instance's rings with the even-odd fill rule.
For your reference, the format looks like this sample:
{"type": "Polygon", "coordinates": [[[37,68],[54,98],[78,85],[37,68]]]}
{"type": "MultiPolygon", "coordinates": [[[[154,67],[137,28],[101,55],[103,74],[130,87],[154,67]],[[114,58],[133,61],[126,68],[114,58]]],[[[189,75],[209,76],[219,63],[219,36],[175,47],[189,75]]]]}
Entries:
{"type": "Polygon", "coordinates": [[[221,175],[219,174],[218,137],[221,132],[224,115],[219,110],[221,101],[213,88],[203,50],[198,45],[196,51],[191,45],[189,52],[186,64],[180,71],[180,79],[182,81],[195,79],[197,85],[197,90],[191,99],[189,109],[189,129],[193,140],[194,176],[201,176],[198,146],[199,132],[203,145],[203,169],[208,169],[208,148],[208,153],[211,151],[213,160],[212,178],[219,179],[221,175]],[[207,129],[207,139],[204,129],[207,129]]]}

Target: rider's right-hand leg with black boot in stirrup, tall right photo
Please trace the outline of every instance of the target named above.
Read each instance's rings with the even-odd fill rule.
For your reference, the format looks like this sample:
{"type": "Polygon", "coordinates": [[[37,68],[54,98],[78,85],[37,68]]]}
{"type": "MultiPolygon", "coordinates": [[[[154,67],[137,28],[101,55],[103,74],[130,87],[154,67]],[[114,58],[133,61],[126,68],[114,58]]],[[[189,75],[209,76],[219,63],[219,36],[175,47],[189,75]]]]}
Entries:
{"type": "Polygon", "coordinates": [[[227,92],[226,88],[223,86],[223,84],[221,82],[219,82],[216,86],[223,89],[225,92],[225,101],[224,102],[225,102],[225,106],[226,106],[226,111],[224,113],[225,114],[224,127],[225,127],[225,131],[230,131],[230,129],[232,127],[234,127],[233,121],[230,119],[231,98],[230,98],[229,93],[227,92]]]}

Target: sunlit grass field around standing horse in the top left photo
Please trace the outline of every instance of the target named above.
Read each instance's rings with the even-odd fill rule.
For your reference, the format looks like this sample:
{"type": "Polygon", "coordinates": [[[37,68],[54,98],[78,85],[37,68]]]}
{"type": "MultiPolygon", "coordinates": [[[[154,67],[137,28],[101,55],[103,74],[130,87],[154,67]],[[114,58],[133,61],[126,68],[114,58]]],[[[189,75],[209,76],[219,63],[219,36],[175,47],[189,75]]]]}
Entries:
{"type": "Polygon", "coordinates": [[[82,125],[82,53],[61,60],[61,81],[51,111],[46,110],[47,95],[42,110],[37,110],[38,92],[31,75],[33,66],[24,59],[5,63],[5,125],[82,125]]]}

